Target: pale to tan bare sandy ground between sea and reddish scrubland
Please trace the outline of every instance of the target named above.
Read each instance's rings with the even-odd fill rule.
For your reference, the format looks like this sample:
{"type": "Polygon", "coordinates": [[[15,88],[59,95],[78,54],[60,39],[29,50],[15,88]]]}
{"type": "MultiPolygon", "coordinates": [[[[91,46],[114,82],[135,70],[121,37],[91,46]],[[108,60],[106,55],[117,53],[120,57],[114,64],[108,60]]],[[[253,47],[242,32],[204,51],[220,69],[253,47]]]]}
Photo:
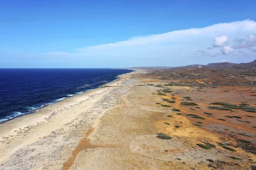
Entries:
{"type": "MultiPolygon", "coordinates": [[[[163,103],[165,96],[152,94],[159,88],[147,84],[164,82],[140,79],[141,74],[145,71],[124,74],[107,85],[112,87],[73,96],[0,125],[0,170],[205,170],[212,169],[206,159],[255,159],[239,148],[230,153],[222,147],[205,150],[195,145],[201,140],[221,142],[221,136],[155,104],[163,103]],[[158,139],[157,132],[173,138],[158,139]]],[[[172,89],[178,94],[187,87],[172,89]]],[[[232,169],[248,169],[246,163],[232,169]]]]}

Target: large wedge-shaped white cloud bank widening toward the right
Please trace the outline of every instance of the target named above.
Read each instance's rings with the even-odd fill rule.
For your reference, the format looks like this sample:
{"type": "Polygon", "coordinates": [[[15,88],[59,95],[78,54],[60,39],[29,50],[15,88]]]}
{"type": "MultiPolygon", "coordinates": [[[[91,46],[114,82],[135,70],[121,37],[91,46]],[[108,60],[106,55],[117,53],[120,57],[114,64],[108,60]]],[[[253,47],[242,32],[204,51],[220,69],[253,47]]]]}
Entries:
{"type": "MultiPolygon", "coordinates": [[[[204,28],[190,28],[163,34],[133,37],[129,40],[77,48],[76,52],[73,53],[56,51],[44,54],[44,56],[50,56],[49,59],[53,57],[59,58],[59,60],[66,59],[70,62],[77,60],[79,63],[88,63],[88,59],[98,59],[99,63],[116,63],[119,61],[122,63],[137,63],[140,66],[163,64],[175,66],[184,65],[184,61],[191,63],[209,62],[210,57],[214,57],[211,54],[217,54],[215,59],[222,59],[223,54],[233,53],[234,55],[237,48],[233,47],[233,44],[243,45],[247,41],[253,41],[255,39],[252,36],[253,34],[256,34],[256,22],[244,20],[218,23],[204,28]],[[246,37],[248,34],[251,35],[246,39],[239,39],[240,42],[228,41],[236,37],[246,37]],[[213,40],[216,47],[207,49],[211,46],[213,40]],[[229,45],[225,45],[227,42],[229,42],[229,45]],[[204,57],[201,57],[201,60],[198,61],[195,56],[204,57]],[[163,63],[162,61],[172,62],[163,63]]],[[[254,50],[254,46],[246,46],[247,50],[254,50]]]]}

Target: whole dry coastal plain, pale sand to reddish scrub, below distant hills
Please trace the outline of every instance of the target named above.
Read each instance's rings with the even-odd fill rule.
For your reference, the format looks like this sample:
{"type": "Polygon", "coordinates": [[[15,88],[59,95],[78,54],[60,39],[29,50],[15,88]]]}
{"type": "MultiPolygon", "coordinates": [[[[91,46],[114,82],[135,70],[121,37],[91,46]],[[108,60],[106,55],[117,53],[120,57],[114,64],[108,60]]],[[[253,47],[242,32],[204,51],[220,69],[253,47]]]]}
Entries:
{"type": "Polygon", "coordinates": [[[253,169],[255,79],[190,73],[138,70],[0,125],[0,170],[253,169]]]}

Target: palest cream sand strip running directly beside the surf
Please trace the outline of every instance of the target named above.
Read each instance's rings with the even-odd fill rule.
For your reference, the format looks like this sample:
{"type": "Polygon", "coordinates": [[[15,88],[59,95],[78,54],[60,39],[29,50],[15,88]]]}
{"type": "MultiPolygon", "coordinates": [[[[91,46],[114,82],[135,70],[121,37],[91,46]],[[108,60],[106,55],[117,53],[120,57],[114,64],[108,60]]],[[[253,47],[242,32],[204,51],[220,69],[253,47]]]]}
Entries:
{"type": "MultiPolygon", "coordinates": [[[[134,71],[127,74],[131,74],[131,73],[134,73],[134,71]]],[[[125,74],[119,75],[118,78],[116,78],[111,82],[108,82],[105,85],[110,85],[110,84],[113,85],[115,83],[119,83],[120,81],[122,81],[121,77],[123,75],[125,74]]],[[[51,122],[53,121],[56,122],[57,119],[55,117],[57,117],[59,112],[63,112],[67,110],[76,110],[74,108],[76,108],[76,106],[79,104],[81,105],[83,102],[87,102],[87,104],[89,104],[91,107],[93,104],[95,104],[97,100],[102,99],[102,96],[107,95],[108,92],[109,91],[107,88],[98,87],[90,91],[87,91],[83,94],[70,96],[59,102],[55,102],[43,108],[39,108],[35,110],[35,113],[20,115],[13,119],[9,119],[1,122],[0,123],[0,150],[2,151],[0,153],[0,163],[2,164],[4,161],[6,161],[6,159],[9,159],[12,153],[16,152],[20,148],[26,146],[29,143],[31,144],[32,142],[35,142],[37,139],[41,139],[47,133],[50,134],[52,130],[54,130],[54,127],[51,127],[52,130],[48,128],[48,130],[45,131],[44,133],[37,134],[37,135],[33,134],[33,136],[35,136],[35,139],[30,139],[28,141],[29,131],[33,131],[34,129],[41,129],[41,126],[51,124],[51,122]],[[17,143],[15,143],[15,141],[17,141],[15,137],[17,138],[17,136],[22,136],[21,138],[24,138],[23,139],[24,141],[22,140],[22,142],[18,142],[18,145],[20,145],[20,147],[14,147],[15,145],[17,145],[17,143]],[[13,143],[12,146],[11,146],[11,143],[13,143]]],[[[76,111],[73,111],[73,113],[76,113],[76,111]]],[[[63,115],[58,116],[59,119],[61,119],[62,116],[63,115]]],[[[78,114],[74,114],[73,116],[70,116],[70,118],[76,119],[76,116],[78,116],[78,114]]],[[[66,123],[69,123],[69,121],[70,119],[65,119],[66,123]]],[[[62,124],[63,123],[59,124],[59,127],[61,127],[62,124]]],[[[89,121],[89,124],[92,124],[92,122],[89,121]]],[[[79,142],[79,140],[77,142],[79,142]]],[[[0,169],[1,168],[2,167],[0,166],[0,169]]]]}

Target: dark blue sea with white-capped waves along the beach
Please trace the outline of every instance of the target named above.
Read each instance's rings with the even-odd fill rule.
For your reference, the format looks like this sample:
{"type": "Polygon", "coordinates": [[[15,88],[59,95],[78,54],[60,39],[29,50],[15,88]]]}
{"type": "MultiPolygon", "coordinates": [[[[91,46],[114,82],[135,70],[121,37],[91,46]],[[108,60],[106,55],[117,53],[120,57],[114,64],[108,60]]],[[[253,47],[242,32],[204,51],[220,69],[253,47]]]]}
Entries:
{"type": "Polygon", "coordinates": [[[129,72],[110,68],[0,68],[0,122],[98,88],[129,72]]]}

